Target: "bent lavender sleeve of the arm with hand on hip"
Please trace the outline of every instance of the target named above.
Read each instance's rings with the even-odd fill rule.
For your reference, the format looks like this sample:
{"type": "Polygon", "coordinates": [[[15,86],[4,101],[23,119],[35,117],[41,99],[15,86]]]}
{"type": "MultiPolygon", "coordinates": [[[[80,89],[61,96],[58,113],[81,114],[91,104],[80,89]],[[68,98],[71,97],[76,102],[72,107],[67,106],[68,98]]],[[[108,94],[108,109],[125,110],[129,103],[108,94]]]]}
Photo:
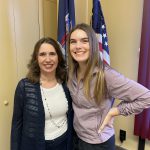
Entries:
{"type": "Polygon", "coordinates": [[[111,67],[105,69],[109,96],[122,100],[118,105],[121,115],[138,114],[150,107],[150,90],[126,78],[111,67]]]}

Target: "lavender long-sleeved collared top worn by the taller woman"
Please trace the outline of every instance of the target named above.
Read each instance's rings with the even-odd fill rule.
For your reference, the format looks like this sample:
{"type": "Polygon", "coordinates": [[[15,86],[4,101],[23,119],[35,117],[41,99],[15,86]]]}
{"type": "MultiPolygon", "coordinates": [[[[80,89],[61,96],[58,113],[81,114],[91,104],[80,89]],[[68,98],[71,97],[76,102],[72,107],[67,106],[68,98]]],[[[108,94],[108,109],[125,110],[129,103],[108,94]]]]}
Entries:
{"type": "Polygon", "coordinates": [[[98,133],[100,125],[112,107],[114,98],[122,100],[117,106],[121,115],[137,114],[150,107],[150,90],[124,77],[111,67],[105,67],[104,70],[108,98],[100,106],[96,105],[93,98],[96,72],[97,69],[94,70],[91,80],[90,101],[84,96],[82,80],[78,83],[74,75],[68,85],[73,99],[74,129],[80,139],[91,144],[103,143],[114,135],[114,128],[109,125],[100,134],[98,133]]]}

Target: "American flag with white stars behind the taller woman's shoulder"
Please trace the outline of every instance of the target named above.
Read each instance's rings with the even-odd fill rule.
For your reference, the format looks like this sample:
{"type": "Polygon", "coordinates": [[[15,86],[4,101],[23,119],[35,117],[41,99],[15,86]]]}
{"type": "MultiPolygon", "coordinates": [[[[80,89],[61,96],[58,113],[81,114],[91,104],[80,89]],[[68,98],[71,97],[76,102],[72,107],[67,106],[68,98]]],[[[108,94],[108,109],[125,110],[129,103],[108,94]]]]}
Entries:
{"type": "Polygon", "coordinates": [[[108,38],[100,0],[93,0],[92,28],[97,34],[102,60],[110,65],[108,38]]]}

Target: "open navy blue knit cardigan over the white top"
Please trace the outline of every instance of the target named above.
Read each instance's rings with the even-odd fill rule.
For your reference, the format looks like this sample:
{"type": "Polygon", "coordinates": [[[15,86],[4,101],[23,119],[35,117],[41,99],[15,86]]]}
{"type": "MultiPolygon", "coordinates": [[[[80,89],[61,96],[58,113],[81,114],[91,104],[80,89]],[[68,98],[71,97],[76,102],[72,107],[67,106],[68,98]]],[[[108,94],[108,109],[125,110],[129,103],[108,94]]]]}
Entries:
{"type": "MultiPolygon", "coordinates": [[[[69,90],[62,84],[68,100],[67,150],[72,150],[73,110],[69,90]]],[[[22,79],[16,88],[11,129],[11,150],[45,150],[45,113],[39,83],[22,79]]]]}

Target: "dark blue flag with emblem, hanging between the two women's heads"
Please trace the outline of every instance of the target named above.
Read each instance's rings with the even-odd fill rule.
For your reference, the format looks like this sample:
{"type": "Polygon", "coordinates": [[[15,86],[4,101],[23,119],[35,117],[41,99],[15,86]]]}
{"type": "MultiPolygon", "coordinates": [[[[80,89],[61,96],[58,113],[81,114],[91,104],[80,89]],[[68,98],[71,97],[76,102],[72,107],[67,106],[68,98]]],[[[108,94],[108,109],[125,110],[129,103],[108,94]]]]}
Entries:
{"type": "Polygon", "coordinates": [[[67,35],[75,26],[74,0],[59,0],[58,10],[58,36],[57,40],[64,49],[63,54],[66,57],[66,39],[67,35]]]}

